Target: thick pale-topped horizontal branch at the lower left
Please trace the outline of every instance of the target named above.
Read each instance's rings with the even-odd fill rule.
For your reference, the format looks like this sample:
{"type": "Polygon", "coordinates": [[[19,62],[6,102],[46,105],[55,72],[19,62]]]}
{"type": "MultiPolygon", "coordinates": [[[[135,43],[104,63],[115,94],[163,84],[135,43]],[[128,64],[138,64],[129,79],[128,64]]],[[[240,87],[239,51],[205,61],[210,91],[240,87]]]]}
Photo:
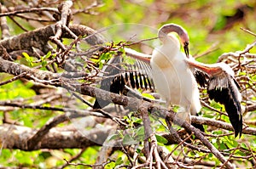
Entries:
{"type": "Polygon", "coordinates": [[[74,127],[55,127],[49,130],[44,138],[41,138],[40,144],[28,148],[26,141],[38,132],[30,127],[21,127],[10,124],[0,126],[0,140],[3,149],[84,149],[93,145],[102,144],[108,137],[111,127],[101,129],[92,129],[90,135],[83,135],[74,127]],[[93,140],[91,139],[93,136],[93,140]]]}

